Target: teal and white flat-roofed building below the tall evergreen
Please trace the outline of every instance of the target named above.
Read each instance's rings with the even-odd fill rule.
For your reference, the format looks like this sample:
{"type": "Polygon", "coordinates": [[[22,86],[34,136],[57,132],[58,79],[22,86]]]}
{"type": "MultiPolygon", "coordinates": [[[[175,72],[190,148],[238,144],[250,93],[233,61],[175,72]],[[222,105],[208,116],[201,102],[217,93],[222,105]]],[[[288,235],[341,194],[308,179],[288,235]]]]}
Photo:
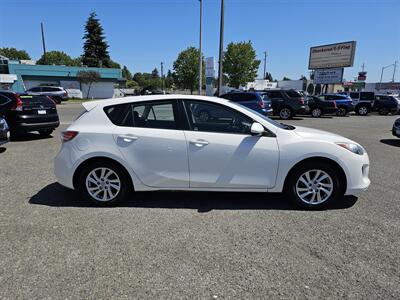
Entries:
{"type": "Polygon", "coordinates": [[[15,92],[23,93],[35,86],[62,86],[71,94],[79,90],[84,98],[112,98],[114,87],[123,81],[122,71],[111,68],[89,68],[56,65],[36,65],[32,61],[0,60],[0,85],[15,92]],[[100,80],[92,83],[89,94],[88,84],[81,84],[77,74],[80,71],[96,71],[100,80]]]}

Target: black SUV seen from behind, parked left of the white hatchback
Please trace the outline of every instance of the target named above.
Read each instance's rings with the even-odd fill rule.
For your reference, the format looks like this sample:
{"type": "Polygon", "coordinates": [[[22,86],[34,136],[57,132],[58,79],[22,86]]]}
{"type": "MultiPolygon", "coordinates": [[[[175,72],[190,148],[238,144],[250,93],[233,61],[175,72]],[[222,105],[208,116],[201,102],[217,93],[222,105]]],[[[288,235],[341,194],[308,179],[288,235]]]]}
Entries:
{"type": "Polygon", "coordinates": [[[12,91],[0,91],[0,97],[9,100],[2,110],[12,135],[31,131],[50,135],[60,125],[56,104],[50,97],[12,91]]]}

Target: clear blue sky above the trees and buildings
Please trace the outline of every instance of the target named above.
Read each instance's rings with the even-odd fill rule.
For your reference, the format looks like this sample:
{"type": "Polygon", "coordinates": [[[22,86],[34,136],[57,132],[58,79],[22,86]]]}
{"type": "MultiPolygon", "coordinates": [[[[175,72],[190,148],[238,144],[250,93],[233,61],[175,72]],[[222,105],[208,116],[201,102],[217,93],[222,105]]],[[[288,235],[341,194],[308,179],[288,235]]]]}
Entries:
{"type": "MultiPolygon", "coordinates": [[[[220,0],[203,3],[203,52],[217,57],[220,0]]],[[[161,61],[172,68],[181,50],[198,46],[197,0],[1,0],[0,47],[26,49],[38,59],[44,22],[47,50],[78,56],[93,10],[112,59],[133,73],[150,72],[161,61]]],[[[383,65],[400,61],[399,20],[400,0],[225,0],[225,45],[251,40],[260,59],[269,53],[267,70],[274,78],[298,79],[309,76],[311,46],[356,40],[354,67],[345,78],[353,79],[365,63],[367,81],[378,81],[383,65]]],[[[388,68],[384,80],[391,76],[388,68]]]]}

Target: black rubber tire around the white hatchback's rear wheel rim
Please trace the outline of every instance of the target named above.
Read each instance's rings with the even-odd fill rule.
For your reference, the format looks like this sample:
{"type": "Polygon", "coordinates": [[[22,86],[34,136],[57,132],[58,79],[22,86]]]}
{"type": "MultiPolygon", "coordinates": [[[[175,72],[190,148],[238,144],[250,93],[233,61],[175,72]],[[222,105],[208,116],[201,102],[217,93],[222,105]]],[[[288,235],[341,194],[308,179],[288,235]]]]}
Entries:
{"type": "MultiPolygon", "coordinates": [[[[92,163],[89,163],[88,165],[86,165],[83,170],[80,173],[79,176],[79,183],[78,183],[78,191],[79,193],[82,195],[82,197],[84,199],[87,199],[88,201],[90,201],[91,203],[95,204],[96,206],[114,206],[119,202],[122,202],[123,200],[125,200],[128,195],[130,195],[133,191],[133,186],[132,186],[132,182],[130,180],[130,175],[128,174],[128,172],[122,168],[119,164],[114,163],[112,161],[94,161],[92,163]],[[120,180],[120,189],[119,191],[116,193],[115,198],[108,200],[108,201],[99,201],[98,199],[94,198],[86,185],[86,179],[88,178],[88,175],[96,169],[99,168],[107,168],[109,170],[112,170],[113,172],[115,172],[115,174],[117,174],[118,179],[120,180]]],[[[101,191],[101,193],[105,193],[105,191],[101,191]]]]}

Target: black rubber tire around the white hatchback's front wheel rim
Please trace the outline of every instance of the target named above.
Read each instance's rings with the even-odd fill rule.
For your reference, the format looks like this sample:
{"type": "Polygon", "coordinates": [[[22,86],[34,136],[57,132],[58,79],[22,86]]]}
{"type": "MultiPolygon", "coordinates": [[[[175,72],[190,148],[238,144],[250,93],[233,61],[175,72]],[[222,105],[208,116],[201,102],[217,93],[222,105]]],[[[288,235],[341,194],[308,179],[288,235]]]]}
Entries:
{"type": "MultiPolygon", "coordinates": [[[[285,183],[285,193],[289,197],[289,199],[298,207],[303,209],[324,209],[328,207],[331,203],[336,202],[340,199],[343,199],[343,189],[341,182],[337,176],[337,171],[332,168],[329,164],[322,163],[322,162],[307,162],[304,164],[299,165],[296,167],[295,170],[291,171],[288,175],[290,177],[287,178],[285,183]],[[321,170],[327,173],[333,185],[332,192],[329,197],[322,203],[318,204],[310,204],[303,201],[300,196],[298,195],[298,191],[296,188],[296,184],[300,180],[300,177],[312,170],[321,170]]],[[[310,189],[312,189],[310,187],[310,189]]],[[[300,193],[300,192],[299,192],[300,193]]],[[[312,196],[312,194],[311,194],[312,196]]]]}

